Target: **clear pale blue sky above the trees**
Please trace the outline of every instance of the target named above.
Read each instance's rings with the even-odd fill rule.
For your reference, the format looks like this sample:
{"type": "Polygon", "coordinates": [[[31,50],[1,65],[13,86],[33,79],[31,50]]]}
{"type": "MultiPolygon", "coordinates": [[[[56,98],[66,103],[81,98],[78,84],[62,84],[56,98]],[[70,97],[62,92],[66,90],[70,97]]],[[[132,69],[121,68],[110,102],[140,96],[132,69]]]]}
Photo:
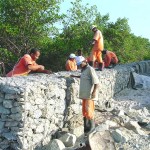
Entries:
{"type": "MultiPolygon", "coordinates": [[[[64,0],[61,10],[65,13],[69,9],[70,2],[64,0]]],[[[131,32],[136,36],[150,40],[150,0],[82,0],[83,4],[96,5],[101,15],[109,13],[110,21],[117,18],[127,18],[131,32]]]]}

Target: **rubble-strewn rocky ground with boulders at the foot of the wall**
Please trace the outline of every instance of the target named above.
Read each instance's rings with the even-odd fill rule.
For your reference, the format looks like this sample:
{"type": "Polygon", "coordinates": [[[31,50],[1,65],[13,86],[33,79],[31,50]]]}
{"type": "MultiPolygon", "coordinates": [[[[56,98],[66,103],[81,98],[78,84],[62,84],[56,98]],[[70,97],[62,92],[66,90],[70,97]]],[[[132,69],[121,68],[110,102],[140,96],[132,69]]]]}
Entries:
{"type": "MultiPolygon", "coordinates": [[[[75,115],[71,118],[66,124],[67,130],[65,133],[68,132],[72,134],[67,136],[68,139],[73,135],[76,135],[77,139],[74,140],[74,143],[73,140],[71,140],[72,142],[70,142],[72,144],[70,143],[68,147],[66,146],[66,138],[62,140],[64,135],[61,135],[61,138],[57,136],[56,138],[63,141],[65,145],[62,149],[150,149],[150,88],[148,84],[150,78],[146,80],[147,82],[142,82],[142,84],[141,79],[136,81],[138,82],[136,82],[134,89],[130,88],[121,91],[110,99],[108,103],[103,104],[103,107],[96,106],[96,128],[88,137],[85,138],[83,134],[82,114],[75,115]],[[148,86],[145,86],[146,84],[148,86]]],[[[56,149],[61,149],[58,143],[56,145],[56,149]]],[[[55,150],[54,147],[51,147],[51,149],[55,150]]]]}

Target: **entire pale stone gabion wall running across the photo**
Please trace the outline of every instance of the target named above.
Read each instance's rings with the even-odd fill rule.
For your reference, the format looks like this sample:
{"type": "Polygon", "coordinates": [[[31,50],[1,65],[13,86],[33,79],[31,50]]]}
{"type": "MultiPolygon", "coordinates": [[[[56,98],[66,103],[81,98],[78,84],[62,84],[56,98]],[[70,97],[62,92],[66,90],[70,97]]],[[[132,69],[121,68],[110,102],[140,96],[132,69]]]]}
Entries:
{"type": "MultiPolygon", "coordinates": [[[[150,73],[150,61],[118,65],[97,75],[100,80],[96,105],[130,86],[131,72],[150,73]]],[[[81,113],[77,72],[0,78],[0,148],[30,150],[47,144],[68,119],[81,113]]]]}

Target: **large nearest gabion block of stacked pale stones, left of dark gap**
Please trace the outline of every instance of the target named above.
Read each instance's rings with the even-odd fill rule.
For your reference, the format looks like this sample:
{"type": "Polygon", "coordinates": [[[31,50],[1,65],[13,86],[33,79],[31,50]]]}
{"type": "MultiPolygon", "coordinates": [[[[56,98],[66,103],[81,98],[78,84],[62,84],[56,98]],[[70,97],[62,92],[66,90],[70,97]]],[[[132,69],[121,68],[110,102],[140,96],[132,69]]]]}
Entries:
{"type": "Polygon", "coordinates": [[[53,75],[1,78],[0,148],[32,149],[63,126],[66,82],[53,75]]]}

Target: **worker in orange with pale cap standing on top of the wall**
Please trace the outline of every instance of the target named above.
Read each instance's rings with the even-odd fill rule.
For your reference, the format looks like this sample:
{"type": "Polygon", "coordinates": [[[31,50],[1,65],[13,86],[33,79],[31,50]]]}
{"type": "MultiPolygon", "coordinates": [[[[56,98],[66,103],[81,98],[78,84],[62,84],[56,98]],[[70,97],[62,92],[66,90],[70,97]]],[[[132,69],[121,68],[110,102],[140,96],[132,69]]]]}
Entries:
{"type": "Polygon", "coordinates": [[[104,68],[104,63],[102,60],[102,51],[104,49],[103,35],[95,25],[92,25],[91,30],[94,32],[94,37],[92,41],[93,48],[90,55],[89,65],[93,66],[94,62],[97,60],[99,64],[99,70],[102,71],[104,68]]]}

